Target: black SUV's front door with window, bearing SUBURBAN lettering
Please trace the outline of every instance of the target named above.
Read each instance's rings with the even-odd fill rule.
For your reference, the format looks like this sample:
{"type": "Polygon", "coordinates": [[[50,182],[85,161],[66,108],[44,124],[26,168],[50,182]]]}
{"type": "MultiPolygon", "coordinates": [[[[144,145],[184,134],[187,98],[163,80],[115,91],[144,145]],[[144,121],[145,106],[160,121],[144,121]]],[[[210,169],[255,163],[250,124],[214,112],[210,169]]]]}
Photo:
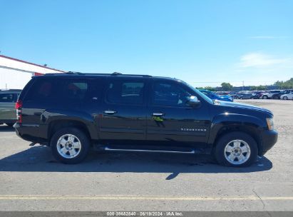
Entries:
{"type": "MultiPolygon", "coordinates": [[[[207,142],[210,112],[207,102],[188,106],[192,89],[177,81],[154,80],[150,89],[147,138],[157,145],[200,146],[207,142]]],[[[200,96],[197,96],[200,99],[200,96]]]]}

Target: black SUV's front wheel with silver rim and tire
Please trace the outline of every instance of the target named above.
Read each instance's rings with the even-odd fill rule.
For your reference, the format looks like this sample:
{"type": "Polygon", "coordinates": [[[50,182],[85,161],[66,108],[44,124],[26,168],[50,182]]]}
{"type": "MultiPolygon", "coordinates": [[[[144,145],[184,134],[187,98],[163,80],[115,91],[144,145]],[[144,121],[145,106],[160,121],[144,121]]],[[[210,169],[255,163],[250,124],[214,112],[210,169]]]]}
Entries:
{"type": "Polygon", "coordinates": [[[257,159],[257,143],[247,133],[227,133],[217,141],[215,158],[222,166],[250,166],[257,159]]]}

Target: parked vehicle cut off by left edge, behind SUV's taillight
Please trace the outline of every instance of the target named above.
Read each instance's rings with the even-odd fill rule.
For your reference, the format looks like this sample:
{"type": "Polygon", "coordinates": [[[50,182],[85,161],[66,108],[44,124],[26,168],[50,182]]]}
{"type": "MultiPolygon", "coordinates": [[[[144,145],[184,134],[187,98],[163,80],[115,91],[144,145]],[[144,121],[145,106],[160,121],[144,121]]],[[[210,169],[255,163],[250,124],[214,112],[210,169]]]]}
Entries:
{"type": "Polygon", "coordinates": [[[0,124],[13,126],[16,122],[15,104],[21,94],[19,89],[0,91],[0,124]]]}

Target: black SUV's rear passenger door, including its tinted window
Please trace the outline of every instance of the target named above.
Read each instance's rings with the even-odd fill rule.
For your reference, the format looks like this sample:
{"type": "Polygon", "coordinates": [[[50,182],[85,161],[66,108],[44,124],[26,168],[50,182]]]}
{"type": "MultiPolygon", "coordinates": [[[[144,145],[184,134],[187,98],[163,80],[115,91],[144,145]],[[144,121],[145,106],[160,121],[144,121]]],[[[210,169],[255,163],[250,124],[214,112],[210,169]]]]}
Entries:
{"type": "Polygon", "coordinates": [[[108,79],[98,121],[101,139],[128,144],[145,140],[147,86],[145,79],[108,79]]]}

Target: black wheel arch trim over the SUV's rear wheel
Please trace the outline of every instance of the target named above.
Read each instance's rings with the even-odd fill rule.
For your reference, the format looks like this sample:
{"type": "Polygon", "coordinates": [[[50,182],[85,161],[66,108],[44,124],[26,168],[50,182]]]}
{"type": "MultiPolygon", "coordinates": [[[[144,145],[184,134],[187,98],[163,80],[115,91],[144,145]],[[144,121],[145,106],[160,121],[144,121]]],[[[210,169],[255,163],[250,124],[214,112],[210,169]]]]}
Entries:
{"type": "Polygon", "coordinates": [[[61,128],[66,128],[66,127],[74,127],[74,128],[78,128],[81,131],[83,131],[83,133],[86,133],[86,136],[88,136],[88,138],[91,139],[91,135],[88,132],[88,128],[86,126],[85,123],[81,122],[81,121],[71,121],[71,120],[56,120],[56,121],[52,121],[49,126],[48,126],[48,139],[49,139],[49,143],[51,141],[51,138],[53,136],[53,134],[60,130],[61,128]]]}

